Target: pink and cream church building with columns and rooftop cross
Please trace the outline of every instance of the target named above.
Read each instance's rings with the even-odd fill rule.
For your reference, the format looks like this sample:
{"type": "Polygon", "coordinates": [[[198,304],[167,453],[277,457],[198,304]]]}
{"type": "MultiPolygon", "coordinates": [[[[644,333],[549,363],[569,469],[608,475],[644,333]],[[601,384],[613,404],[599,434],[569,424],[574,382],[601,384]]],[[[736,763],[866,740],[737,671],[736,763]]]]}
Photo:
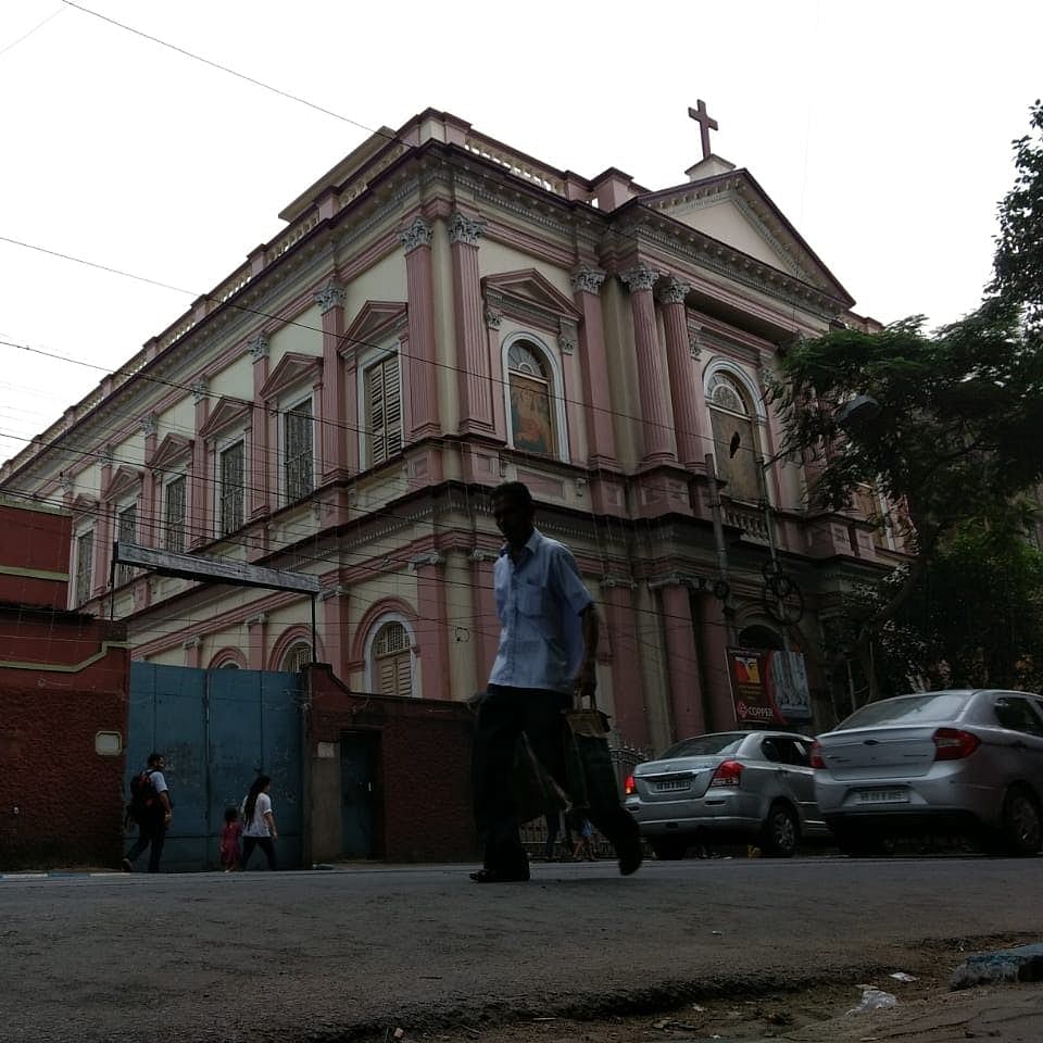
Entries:
{"type": "Polygon", "coordinates": [[[113,566],[113,545],[306,573],[315,656],[353,691],[466,700],[499,631],[489,492],[518,479],[594,595],[619,744],[830,725],[830,618],[901,549],[871,490],[812,506],[765,389],[795,339],[867,321],[691,114],[702,159],[661,189],[444,112],[373,134],[0,469],[74,514],[67,607],[121,620],[134,659],[297,670],[307,595],[113,566]],[[763,719],[740,650],[777,653],[763,719]]]}

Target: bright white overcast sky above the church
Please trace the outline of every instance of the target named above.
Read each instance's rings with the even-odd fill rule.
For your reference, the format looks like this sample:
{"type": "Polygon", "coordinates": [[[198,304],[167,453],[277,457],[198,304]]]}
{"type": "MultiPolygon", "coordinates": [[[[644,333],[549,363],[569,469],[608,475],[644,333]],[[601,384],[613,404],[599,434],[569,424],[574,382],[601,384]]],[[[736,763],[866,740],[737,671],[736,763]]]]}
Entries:
{"type": "MultiPolygon", "coordinates": [[[[83,2],[367,127],[430,105],[650,189],[700,158],[687,112],[703,98],[714,151],[883,322],[977,305],[1041,93],[1038,2],[83,2]]],[[[105,369],[366,137],[61,0],[0,3],[0,237],[191,291],[0,241],[0,339],[105,369]]],[[[0,344],[0,460],[102,375],[0,344]]]]}

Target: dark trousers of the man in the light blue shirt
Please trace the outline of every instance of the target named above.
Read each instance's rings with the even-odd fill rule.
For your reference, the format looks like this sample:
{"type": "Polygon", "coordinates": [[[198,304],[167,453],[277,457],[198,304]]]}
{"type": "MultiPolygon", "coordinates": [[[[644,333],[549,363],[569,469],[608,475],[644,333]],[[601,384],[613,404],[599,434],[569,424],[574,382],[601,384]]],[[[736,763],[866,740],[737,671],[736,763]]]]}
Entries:
{"type": "MultiPolygon", "coordinates": [[[[478,704],[478,726],[472,759],[475,825],[485,838],[486,869],[505,875],[523,874],[528,858],[518,833],[517,806],[511,792],[511,772],[518,736],[524,731],[537,758],[568,791],[565,772],[562,712],[571,696],[527,688],[490,684],[478,704]]],[[[638,826],[619,805],[591,808],[587,817],[615,847],[633,843],[638,826]]]]}

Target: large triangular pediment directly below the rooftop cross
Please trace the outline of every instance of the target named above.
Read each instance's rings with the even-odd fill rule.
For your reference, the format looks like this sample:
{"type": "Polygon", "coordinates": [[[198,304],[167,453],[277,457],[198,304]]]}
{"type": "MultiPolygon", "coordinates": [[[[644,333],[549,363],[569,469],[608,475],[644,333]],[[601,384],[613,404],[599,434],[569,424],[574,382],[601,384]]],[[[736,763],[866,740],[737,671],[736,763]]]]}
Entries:
{"type": "Polygon", "coordinates": [[[641,203],[847,306],[854,303],[749,171],[702,177],[643,196],[641,203]]]}

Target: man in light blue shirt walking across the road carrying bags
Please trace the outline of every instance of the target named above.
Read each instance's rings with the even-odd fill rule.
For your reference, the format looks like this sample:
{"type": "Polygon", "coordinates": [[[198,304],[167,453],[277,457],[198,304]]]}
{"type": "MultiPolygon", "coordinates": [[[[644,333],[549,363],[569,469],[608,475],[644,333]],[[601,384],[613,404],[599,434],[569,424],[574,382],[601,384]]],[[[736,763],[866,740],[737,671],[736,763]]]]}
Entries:
{"type": "MultiPolygon", "coordinates": [[[[506,539],[493,570],[500,648],[478,706],[473,786],[475,821],[485,837],[477,883],[529,879],[518,833],[511,772],[518,736],[567,789],[562,713],[574,696],[593,696],[598,613],[571,552],[533,525],[532,495],[520,481],[492,491],[492,514],[506,539]]],[[[591,808],[589,817],[616,849],[619,871],[641,865],[641,840],[630,815],[591,808]]]]}

